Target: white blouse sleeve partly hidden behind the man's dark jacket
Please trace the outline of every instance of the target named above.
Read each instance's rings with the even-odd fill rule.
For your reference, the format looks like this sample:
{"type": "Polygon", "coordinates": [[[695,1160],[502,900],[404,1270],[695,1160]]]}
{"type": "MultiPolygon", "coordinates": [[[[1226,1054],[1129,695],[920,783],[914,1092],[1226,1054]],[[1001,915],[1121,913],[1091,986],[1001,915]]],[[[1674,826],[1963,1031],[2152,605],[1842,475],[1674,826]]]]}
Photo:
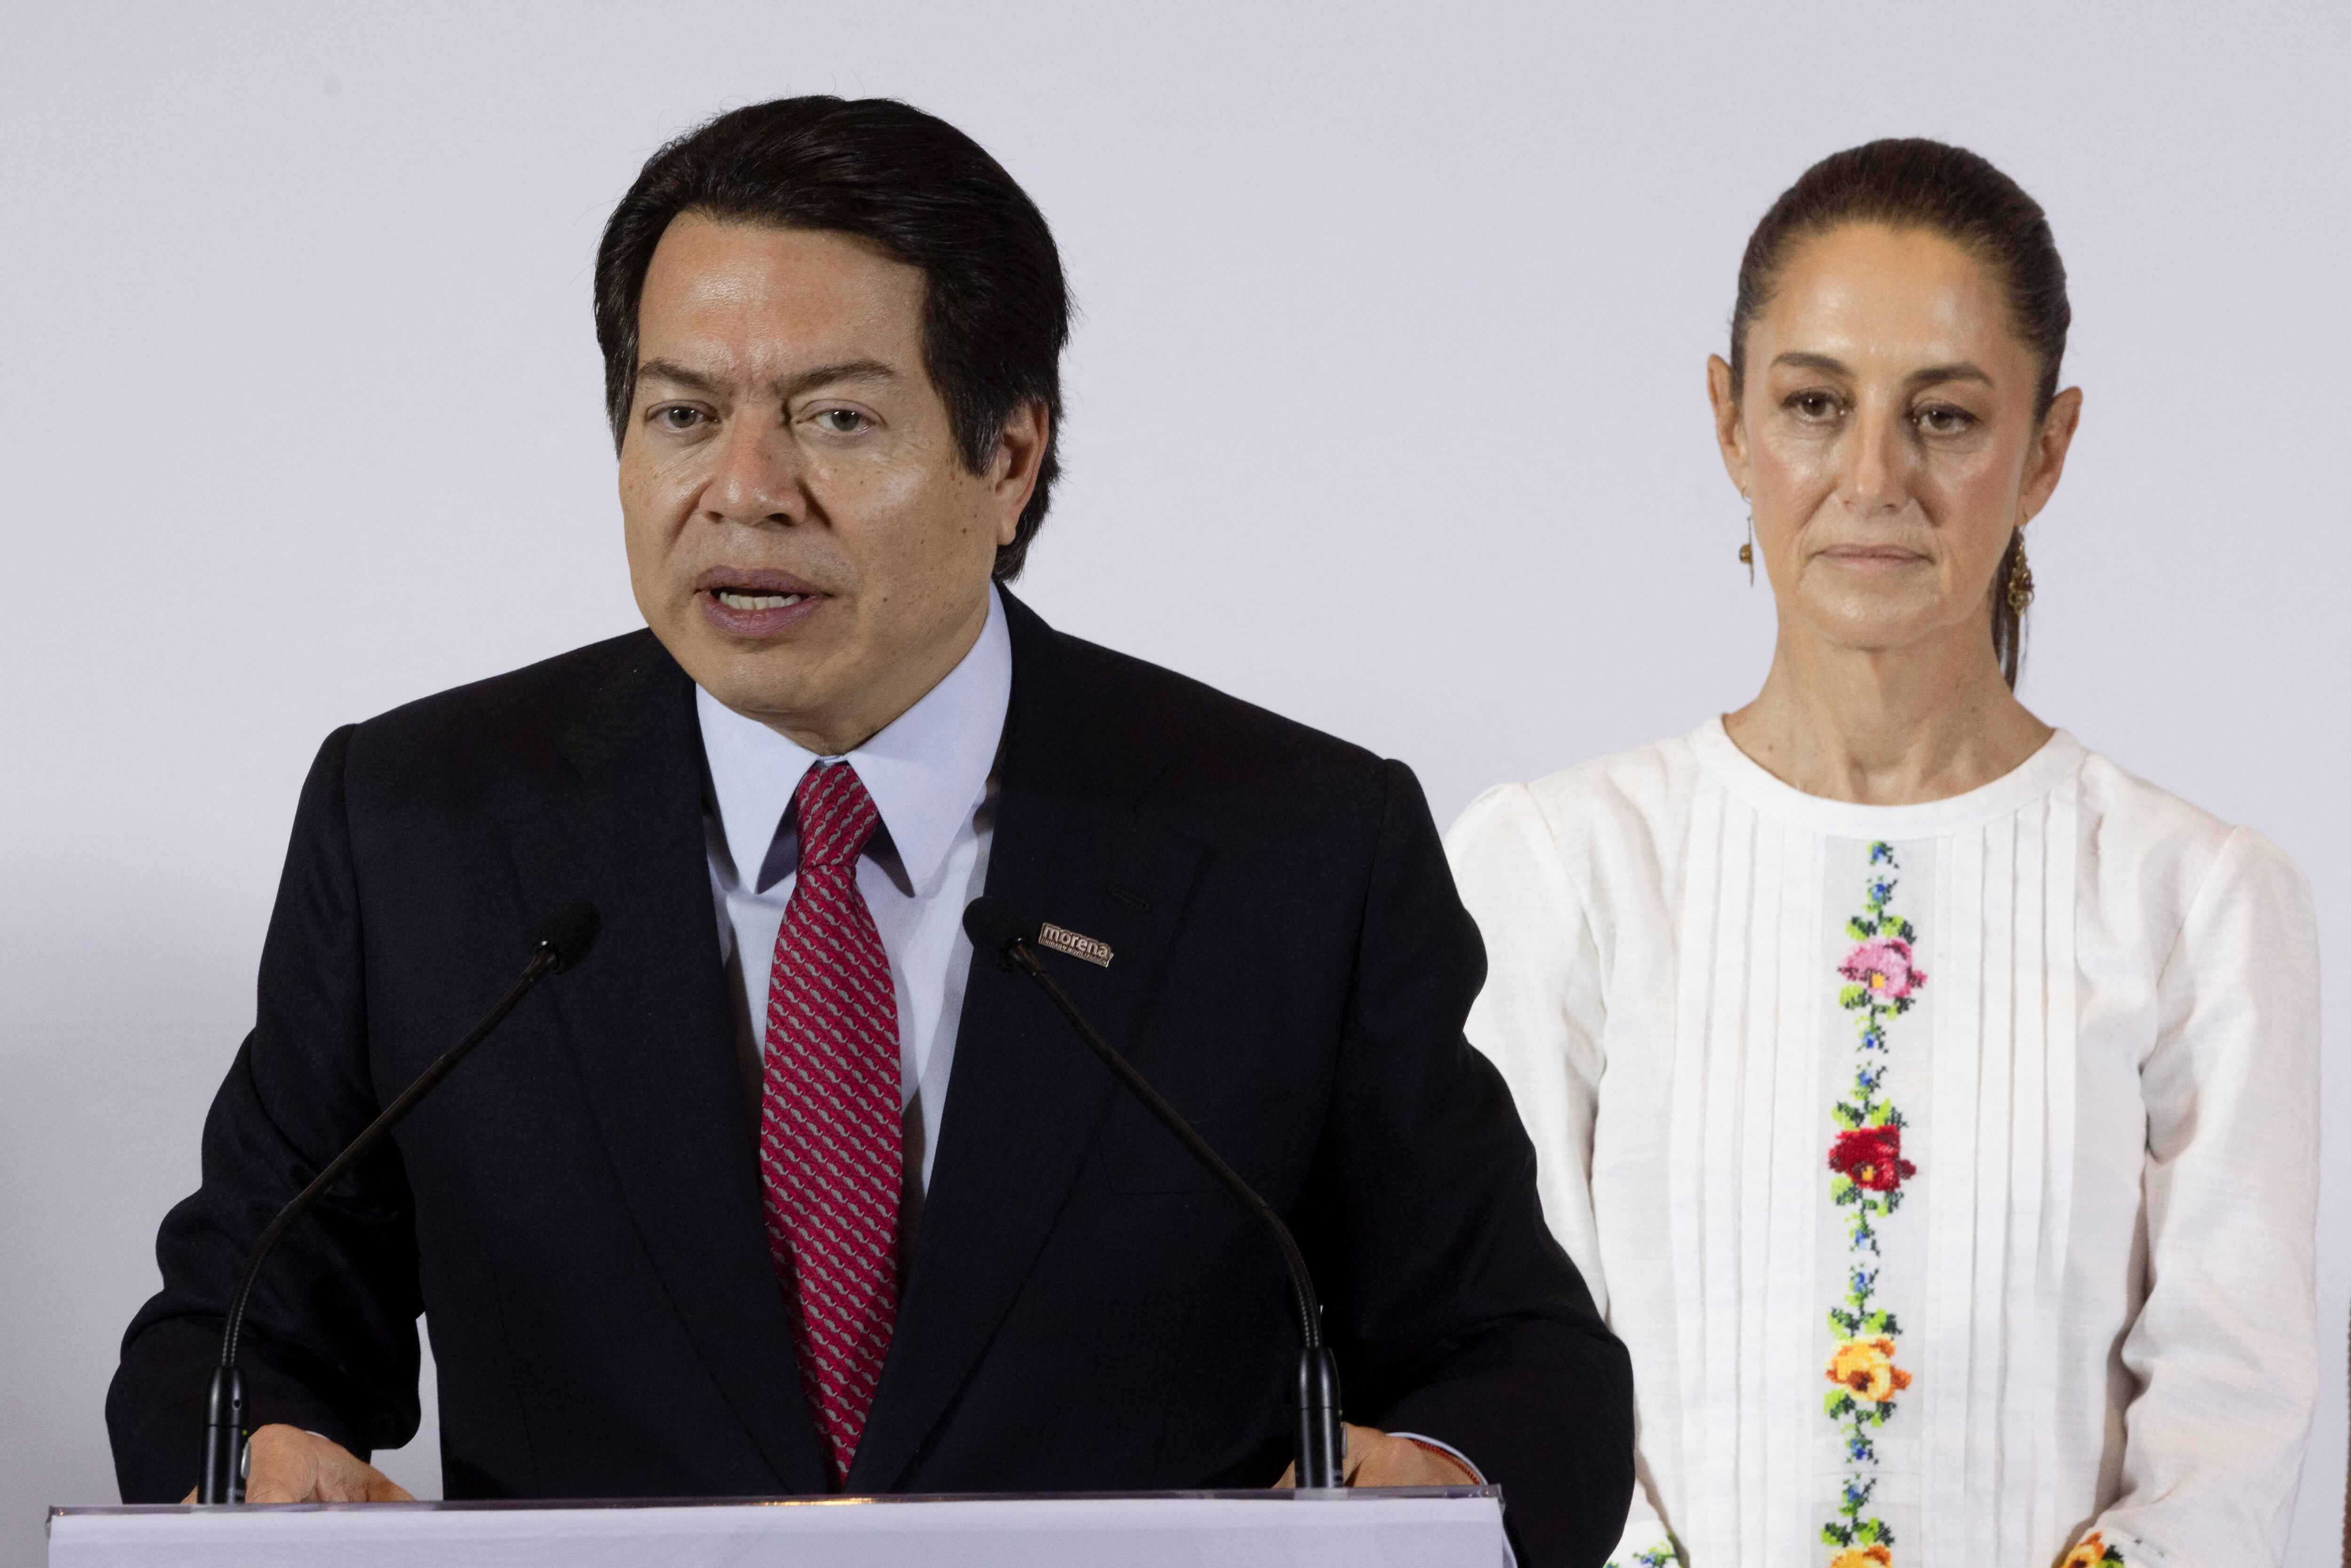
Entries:
{"type": "MultiPolygon", "coordinates": [[[[1486,985],[1469,1009],[1469,1044],[1509,1084],[1535,1143],[1542,1218],[1608,1316],[1592,1211],[1592,1121],[1608,1001],[1592,922],[1526,785],[1500,785],[1469,802],[1446,835],[1446,856],[1486,938],[1486,985]]],[[[1608,1568],[1676,1561],[1639,1446],[1634,1465],[1632,1516],[1608,1568]]]]}

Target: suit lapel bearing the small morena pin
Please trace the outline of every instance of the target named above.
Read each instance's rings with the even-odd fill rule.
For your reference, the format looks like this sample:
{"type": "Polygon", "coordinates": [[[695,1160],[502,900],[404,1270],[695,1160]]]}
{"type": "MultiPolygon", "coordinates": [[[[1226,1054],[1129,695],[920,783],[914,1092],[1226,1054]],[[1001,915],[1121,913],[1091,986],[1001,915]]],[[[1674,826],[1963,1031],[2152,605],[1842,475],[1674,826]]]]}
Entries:
{"type": "MultiPolygon", "coordinates": [[[[997,776],[987,891],[1025,922],[1112,947],[1107,969],[1046,954],[1126,1048],[1164,969],[1199,846],[1133,813],[1147,776],[1093,743],[1056,635],[1011,595],[1013,701],[997,776]]],[[[1025,978],[973,959],[955,1070],[889,1363],[849,1474],[891,1490],[945,1415],[1027,1279],[1093,1143],[1112,1079],[1025,978]]]]}

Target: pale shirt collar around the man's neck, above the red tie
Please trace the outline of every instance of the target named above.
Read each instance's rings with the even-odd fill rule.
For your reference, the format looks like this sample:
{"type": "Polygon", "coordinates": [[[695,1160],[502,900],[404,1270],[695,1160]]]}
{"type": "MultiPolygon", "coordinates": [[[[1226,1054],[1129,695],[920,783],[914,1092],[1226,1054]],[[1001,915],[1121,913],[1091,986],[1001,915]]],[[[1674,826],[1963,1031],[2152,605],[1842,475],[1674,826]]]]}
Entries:
{"type": "Polygon", "coordinates": [[[947,863],[955,835],[987,797],[1011,696],[1013,642],[992,583],[987,625],[962,663],[846,757],[818,757],[696,686],[703,757],[738,884],[759,882],[759,867],[788,825],[799,778],[818,762],[849,762],[882,813],[907,882],[917,893],[929,889],[947,863]]]}

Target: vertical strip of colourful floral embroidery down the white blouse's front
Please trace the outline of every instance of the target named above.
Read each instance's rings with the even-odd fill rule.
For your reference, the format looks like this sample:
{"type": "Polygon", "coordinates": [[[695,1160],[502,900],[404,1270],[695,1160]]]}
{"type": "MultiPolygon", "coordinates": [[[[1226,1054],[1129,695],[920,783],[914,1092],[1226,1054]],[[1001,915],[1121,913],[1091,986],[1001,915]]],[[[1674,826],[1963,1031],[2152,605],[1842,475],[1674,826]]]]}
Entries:
{"type": "MultiPolygon", "coordinates": [[[[1829,1307],[1829,1331],[1838,1342],[1829,1354],[1827,1378],[1834,1387],[1827,1413],[1836,1422],[1846,1460],[1836,1519],[1820,1528],[1824,1544],[1841,1547],[1829,1568],[1893,1568],[1895,1561],[1893,1530],[1869,1514],[1869,1495],[1878,1488],[1871,1434],[1893,1418],[1895,1394],[1911,1385],[1911,1375],[1895,1366],[1895,1338],[1902,1328],[1876,1302],[1878,1222],[1902,1206],[1902,1182],[1918,1175],[1918,1166],[1902,1159],[1902,1112],[1881,1091],[1890,1060],[1888,1025],[1911,1009],[1925,985],[1925,971],[1911,961],[1918,931],[1888,907],[1900,870],[1893,844],[1869,846],[1864,907],[1846,922],[1855,947],[1836,966],[1846,980],[1836,1004],[1853,1013],[1857,1039],[1853,1093],[1831,1110],[1836,1138],[1829,1143],[1829,1197],[1838,1208],[1853,1211],[1846,1225],[1846,1295],[1829,1307]]],[[[2074,1561],[2062,1568],[2074,1568],[2074,1561]]]]}

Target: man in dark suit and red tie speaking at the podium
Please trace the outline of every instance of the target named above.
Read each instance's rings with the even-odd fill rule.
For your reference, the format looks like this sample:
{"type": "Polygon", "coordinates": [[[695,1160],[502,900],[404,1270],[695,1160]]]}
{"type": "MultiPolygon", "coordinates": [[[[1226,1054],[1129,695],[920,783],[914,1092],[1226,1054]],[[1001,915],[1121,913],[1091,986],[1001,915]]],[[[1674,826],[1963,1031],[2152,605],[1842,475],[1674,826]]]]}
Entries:
{"type": "Polygon", "coordinates": [[[663,148],[597,261],[649,630],[329,736],[259,1018],[108,1396],[188,1490],[245,1248],[604,914],[254,1295],[254,1500],[400,1495],[430,1312],[454,1497],[1262,1486],[1277,1251],[957,929],[1053,922],[1081,1009],[1314,1265],[1366,1486],[1505,1486],[1599,1563],[1622,1347],[1460,1025],[1483,954],[1413,776],[1053,632],[1067,336],[1044,219],[886,101],[663,148]]]}

